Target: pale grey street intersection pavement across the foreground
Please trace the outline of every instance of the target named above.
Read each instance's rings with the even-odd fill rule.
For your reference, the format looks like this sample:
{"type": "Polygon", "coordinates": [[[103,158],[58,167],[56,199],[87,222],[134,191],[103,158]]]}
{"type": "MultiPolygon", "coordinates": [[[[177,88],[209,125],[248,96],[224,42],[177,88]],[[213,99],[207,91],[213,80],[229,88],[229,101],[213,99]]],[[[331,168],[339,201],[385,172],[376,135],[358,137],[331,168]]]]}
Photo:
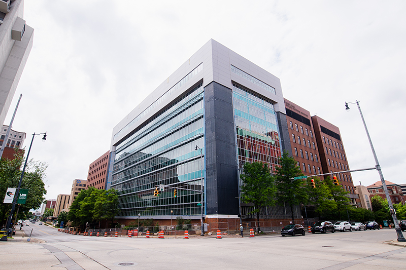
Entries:
{"type": "Polygon", "coordinates": [[[36,224],[23,229],[27,235],[32,229],[31,238],[46,243],[3,242],[0,269],[51,269],[52,265],[67,269],[406,268],[406,249],[384,244],[396,238],[394,229],[189,240],[84,237],[36,224]]]}

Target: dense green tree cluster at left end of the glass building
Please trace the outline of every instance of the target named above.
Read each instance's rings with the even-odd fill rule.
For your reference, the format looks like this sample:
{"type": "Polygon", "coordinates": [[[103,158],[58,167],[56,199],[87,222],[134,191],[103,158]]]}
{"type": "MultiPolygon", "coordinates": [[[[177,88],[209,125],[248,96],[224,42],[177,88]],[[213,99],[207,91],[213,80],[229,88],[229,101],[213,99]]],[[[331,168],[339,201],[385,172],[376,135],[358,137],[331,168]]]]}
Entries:
{"type": "Polygon", "coordinates": [[[84,227],[102,219],[113,219],[118,212],[118,196],[115,189],[89,187],[80,191],[69,208],[69,220],[74,226],[84,227]]]}

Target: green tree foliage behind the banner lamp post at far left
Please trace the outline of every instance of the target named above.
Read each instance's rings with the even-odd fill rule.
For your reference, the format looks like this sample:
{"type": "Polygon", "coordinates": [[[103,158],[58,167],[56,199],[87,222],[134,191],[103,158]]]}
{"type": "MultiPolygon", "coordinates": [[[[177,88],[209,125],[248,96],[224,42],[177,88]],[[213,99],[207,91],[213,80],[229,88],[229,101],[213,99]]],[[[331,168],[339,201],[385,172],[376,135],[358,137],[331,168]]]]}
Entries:
{"type": "MultiPolygon", "coordinates": [[[[6,194],[8,187],[17,187],[21,177],[22,164],[24,162],[23,151],[16,150],[15,159],[2,159],[0,161],[0,194],[6,194]]],[[[45,200],[47,194],[43,179],[48,165],[38,161],[29,160],[25,168],[24,177],[21,181],[21,188],[28,189],[25,204],[20,205],[19,217],[28,215],[30,209],[37,209],[45,200]]],[[[5,226],[10,214],[12,204],[0,205],[0,224],[5,226]]]]}

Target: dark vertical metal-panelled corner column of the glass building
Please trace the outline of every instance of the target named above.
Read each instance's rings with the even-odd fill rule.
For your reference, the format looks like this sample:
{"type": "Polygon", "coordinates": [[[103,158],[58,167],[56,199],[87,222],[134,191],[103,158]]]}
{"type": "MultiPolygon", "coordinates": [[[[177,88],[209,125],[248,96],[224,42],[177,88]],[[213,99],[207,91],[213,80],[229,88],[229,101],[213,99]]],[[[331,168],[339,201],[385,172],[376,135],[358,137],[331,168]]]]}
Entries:
{"type": "Polygon", "coordinates": [[[206,202],[208,215],[238,214],[238,180],[232,91],[205,87],[206,202]]]}

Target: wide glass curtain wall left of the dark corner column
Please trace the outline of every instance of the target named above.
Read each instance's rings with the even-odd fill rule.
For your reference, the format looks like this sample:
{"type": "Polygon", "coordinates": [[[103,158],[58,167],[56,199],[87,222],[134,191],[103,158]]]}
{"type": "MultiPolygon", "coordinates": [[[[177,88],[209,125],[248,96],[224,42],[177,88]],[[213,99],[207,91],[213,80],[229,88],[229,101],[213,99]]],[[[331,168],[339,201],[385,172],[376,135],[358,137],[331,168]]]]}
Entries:
{"type": "Polygon", "coordinates": [[[200,215],[201,159],[195,146],[205,153],[203,97],[200,84],[116,145],[111,187],[119,196],[118,216],[171,216],[171,210],[175,216],[200,215]]]}

